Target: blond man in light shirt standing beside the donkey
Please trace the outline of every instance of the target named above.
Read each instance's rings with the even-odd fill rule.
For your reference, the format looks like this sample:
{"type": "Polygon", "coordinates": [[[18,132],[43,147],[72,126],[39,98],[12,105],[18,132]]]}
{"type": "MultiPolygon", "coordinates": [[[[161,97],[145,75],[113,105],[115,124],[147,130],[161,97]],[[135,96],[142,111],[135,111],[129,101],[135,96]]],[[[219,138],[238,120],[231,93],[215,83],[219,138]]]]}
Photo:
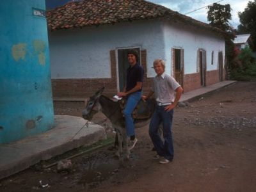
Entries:
{"type": "Polygon", "coordinates": [[[173,140],[172,140],[172,119],[173,108],[178,104],[183,89],[180,84],[164,72],[165,64],[163,60],[154,61],[154,84],[152,90],[147,96],[142,96],[143,99],[148,99],[156,94],[157,106],[152,115],[149,125],[149,135],[156,148],[158,156],[161,157],[159,163],[169,163],[173,159],[173,140]],[[161,140],[158,129],[163,123],[163,138],[161,140]]]}

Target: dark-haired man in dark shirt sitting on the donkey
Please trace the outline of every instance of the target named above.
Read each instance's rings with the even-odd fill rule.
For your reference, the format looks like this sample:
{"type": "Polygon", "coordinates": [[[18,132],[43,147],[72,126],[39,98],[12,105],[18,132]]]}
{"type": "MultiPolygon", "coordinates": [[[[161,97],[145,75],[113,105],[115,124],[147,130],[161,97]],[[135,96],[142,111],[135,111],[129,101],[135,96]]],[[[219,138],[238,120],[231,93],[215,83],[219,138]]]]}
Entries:
{"type": "Polygon", "coordinates": [[[130,67],[127,69],[126,86],[123,92],[117,93],[119,97],[127,97],[124,109],[125,128],[127,136],[130,137],[129,149],[136,145],[138,139],[135,137],[132,112],[141,99],[144,70],[138,63],[139,54],[136,49],[127,52],[130,67]]]}

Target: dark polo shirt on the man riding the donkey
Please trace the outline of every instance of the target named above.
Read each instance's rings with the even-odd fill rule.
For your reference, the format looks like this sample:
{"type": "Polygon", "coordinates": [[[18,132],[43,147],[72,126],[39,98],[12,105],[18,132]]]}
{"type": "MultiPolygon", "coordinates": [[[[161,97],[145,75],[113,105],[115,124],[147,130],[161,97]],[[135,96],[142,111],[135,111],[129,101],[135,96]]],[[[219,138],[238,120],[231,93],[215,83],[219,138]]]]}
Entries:
{"type": "MultiPolygon", "coordinates": [[[[136,86],[137,82],[143,82],[143,74],[144,70],[143,68],[136,63],[133,67],[127,68],[127,76],[126,76],[126,91],[128,92],[134,86],[136,86]]],[[[141,92],[139,90],[138,92],[141,92]]]]}

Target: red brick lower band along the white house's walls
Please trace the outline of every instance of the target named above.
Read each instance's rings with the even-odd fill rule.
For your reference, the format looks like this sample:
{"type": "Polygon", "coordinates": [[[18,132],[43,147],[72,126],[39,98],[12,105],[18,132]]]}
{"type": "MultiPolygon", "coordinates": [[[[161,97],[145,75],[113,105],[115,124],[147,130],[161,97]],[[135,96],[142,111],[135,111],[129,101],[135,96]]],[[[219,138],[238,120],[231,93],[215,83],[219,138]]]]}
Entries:
{"type": "MultiPolygon", "coordinates": [[[[145,76],[147,72],[145,72],[145,76]]],[[[219,82],[219,71],[212,70],[206,73],[206,86],[219,82]]],[[[52,92],[54,98],[86,98],[92,96],[97,90],[105,87],[104,95],[113,97],[118,92],[117,79],[52,79],[52,92]]],[[[143,94],[147,94],[153,83],[153,77],[144,77],[143,94]]],[[[200,73],[184,75],[184,92],[201,88],[200,73]]]]}

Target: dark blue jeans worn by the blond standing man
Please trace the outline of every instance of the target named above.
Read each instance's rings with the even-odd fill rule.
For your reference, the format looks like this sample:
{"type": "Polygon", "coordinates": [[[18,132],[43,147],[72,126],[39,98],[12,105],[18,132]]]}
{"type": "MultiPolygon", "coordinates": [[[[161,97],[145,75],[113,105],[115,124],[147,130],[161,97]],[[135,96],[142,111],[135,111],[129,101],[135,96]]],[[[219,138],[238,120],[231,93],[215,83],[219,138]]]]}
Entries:
{"type": "Polygon", "coordinates": [[[173,159],[173,140],[172,140],[172,119],[173,109],[171,111],[164,111],[166,106],[157,106],[154,111],[150,125],[149,135],[152,140],[156,152],[159,156],[172,161],[173,159]],[[161,140],[158,129],[159,125],[163,122],[163,137],[164,142],[161,140]]]}

